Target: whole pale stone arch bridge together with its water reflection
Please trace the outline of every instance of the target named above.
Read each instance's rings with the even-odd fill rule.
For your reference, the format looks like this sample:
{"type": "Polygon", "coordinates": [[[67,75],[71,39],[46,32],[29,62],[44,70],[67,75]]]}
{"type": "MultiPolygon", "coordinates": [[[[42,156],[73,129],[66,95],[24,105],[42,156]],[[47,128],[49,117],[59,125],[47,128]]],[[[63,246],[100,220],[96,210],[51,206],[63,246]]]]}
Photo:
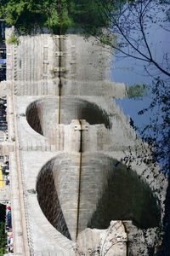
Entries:
{"type": "Polygon", "coordinates": [[[0,86],[14,255],[147,255],[167,179],[116,105],[127,89],[110,79],[111,49],[78,34],[19,39],[0,86]]]}

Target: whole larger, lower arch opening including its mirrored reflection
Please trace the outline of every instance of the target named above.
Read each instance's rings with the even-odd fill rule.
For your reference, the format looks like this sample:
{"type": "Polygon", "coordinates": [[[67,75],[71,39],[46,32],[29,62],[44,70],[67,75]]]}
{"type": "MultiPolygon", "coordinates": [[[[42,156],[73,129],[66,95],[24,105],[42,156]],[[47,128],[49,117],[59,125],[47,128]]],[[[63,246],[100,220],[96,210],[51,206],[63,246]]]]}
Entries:
{"type": "Polygon", "coordinates": [[[149,185],[103,154],[61,154],[50,160],[37,177],[37,199],[48,221],[72,240],[86,227],[108,228],[111,220],[133,220],[148,229],[161,219],[149,185]]]}

